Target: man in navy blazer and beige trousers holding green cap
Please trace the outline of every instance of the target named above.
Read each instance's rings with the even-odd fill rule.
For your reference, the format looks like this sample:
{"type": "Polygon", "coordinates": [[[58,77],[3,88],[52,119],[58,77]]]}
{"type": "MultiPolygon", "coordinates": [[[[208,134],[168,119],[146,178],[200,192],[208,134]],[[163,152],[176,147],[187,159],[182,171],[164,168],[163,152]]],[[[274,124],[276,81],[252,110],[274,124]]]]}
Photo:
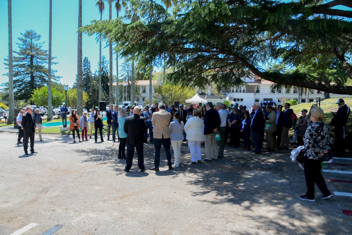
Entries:
{"type": "MultiPolygon", "coordinates": [[[[218,151],[216,147],[216,141],[214,133],[218,132],[220,128],[221,120],[217,110],[214,109],[212,102],[206,104],[207,111],[204,116],[204,135],[205,135],[205,157],[204,161],[211,162],[218,160],[218,151]]],[[[220,133],[219,133],[220,134],[220,133]]]]}

